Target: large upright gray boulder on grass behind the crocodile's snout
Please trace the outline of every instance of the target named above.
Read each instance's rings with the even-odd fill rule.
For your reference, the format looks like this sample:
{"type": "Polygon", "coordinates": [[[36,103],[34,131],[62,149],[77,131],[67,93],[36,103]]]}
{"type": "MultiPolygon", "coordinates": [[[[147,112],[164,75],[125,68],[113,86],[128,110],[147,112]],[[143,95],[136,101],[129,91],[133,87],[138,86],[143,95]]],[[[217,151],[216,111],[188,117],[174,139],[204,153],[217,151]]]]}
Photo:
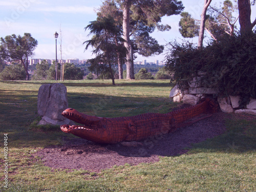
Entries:
{"type": "Polygon", "coordinates": [[[38,90],[37,111],[39,124],[69,124],[61,112],[68,108],[67,88],[62,83],[43,84],[38,90]]]}

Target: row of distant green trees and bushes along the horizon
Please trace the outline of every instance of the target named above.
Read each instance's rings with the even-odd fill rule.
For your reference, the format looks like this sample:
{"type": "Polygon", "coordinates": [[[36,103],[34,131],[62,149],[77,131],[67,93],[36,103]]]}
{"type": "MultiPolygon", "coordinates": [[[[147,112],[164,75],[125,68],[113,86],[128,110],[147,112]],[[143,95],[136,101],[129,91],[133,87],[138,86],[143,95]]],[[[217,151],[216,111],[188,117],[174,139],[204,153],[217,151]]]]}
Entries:
{"type": "MultiPolygon", "coordinates": [[[[76,66],[73,63],[65,64],[64,79],[65,80],[81,80],[81,79],[112,79],[108,73],[94,74],[89,71],[89,65],[76,66]]],[[[40,64],[31,65],[28,67],[32,80],[55,80],[55,63],[49,64],[43,60],[40,64]]],[[[135,79],[170,79],[170,75],[163,67],[156,65],[134,65],[135,79]]],[[[124,75],[126,68],[124,66],[124,75]]],[[[118,69],[113,68],[113,75],[118,79],[118,69]]],[[[18,63],[6,65],[3,60],[0,60],[0,79],[1,80],[26,80],[27,75],[25,69],[18,63]]],[[[60,64],[58,63],[58,79],[60,79],[60,64]]]]}

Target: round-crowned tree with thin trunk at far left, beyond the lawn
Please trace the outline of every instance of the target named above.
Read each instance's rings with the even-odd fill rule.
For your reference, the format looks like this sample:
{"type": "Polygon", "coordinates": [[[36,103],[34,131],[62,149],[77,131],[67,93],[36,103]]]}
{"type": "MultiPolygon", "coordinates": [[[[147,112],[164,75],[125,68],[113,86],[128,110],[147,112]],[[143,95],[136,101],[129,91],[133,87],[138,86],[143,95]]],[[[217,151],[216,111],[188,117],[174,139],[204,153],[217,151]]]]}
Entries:
{"type": "Polygon", "coordinates": [[[1,37],[0,54],[4,60],[20,61],[26,71],[26,80],[29,80],[28,58],[33,55],[36,46],[37,40],[30,33],[24,33],[23,37],[12,34],[1,37]]]}

